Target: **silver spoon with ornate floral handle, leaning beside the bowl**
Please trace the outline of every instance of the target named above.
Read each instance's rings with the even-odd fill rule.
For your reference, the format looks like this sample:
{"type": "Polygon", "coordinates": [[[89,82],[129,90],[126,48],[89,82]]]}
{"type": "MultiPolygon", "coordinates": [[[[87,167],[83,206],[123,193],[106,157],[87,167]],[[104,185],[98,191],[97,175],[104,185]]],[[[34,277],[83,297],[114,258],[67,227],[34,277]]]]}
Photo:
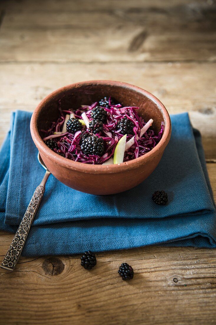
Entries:
{"type": "Polygon", "coordinates": [[[42,167],[46,170],[46,173],[42,179],[42,182],[38,187],[36,188],[31,201],[29,203],[29,206],[26,210],[26,213],[24,214],[24,217],[22,218],[22,221],[18,227],[18,230],[14,236],[14,239],[2,261],[1,267],[5,268],[6,270],[13,271],[19,256],[22,252],[22,249],[24,247],[26,238],[28,236],[32,221],[34,219],[34,216],[37,212],[37,209],[41,203],[41,199],[43,196],[43,193],[45,191],[45,184],[46,181],[50,175],[50,171],[46,168],[44,162],[42,161],[42,158],[38,152],[38,161],[42,165],[42,167]]]}

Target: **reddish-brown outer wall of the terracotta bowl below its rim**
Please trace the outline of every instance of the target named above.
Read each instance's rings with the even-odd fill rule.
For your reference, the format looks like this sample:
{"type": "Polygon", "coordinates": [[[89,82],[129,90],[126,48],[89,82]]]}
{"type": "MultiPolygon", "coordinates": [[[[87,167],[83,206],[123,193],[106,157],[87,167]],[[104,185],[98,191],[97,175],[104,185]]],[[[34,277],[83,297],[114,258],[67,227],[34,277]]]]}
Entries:
{"type": "Polygon", "coordinates": [[[120,193],[142,183],[157,167],[163,154],[163,151],[158,151],[151,159],[130,171],[119,169],[115,174],[90,174],[56,164],[40,150],[39,152],[49,171],[60,182],[78,191],[95,195],[120,193]]]}

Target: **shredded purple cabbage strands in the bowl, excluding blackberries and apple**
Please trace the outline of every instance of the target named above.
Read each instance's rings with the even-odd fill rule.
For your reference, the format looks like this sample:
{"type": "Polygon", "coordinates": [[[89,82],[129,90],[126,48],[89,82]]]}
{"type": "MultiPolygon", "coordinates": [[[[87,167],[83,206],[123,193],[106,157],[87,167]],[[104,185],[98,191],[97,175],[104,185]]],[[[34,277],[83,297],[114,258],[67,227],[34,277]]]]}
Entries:
{"type": "Polygon", "coordinates": [[[61,101],[59,100],[59,118],[56,122],[52,122],[52,125],[48,130],[41,130],[44,135],[43,141],[46,142],[46,140],[49,139],[55,141],[56,148],[53,150],[58,154],[64,155],[67,159],[83,163],[102,164],[113,157],[116,144],[123,136],[123,134],[121,134],[121,129],[118,130],[117,123],[126,117],[134,124],[134,134],[128,134],[127,141],[134,135],[135,138],[134,144],[125,152],[124,162],[144,155],[157,145],[164,131],[163,122],[161,123],[161,130],[157,135],[154,134],[154,131],[152,129],[148,129],[148,131],[143,136],[139,137],[141,128],[146,124],[143,118],[140,117],[137,113],[139,108],[122,107],[122,105],[119,103],[113,105],[113,100],[111,97],[109,98],[108,103],[108,108],[103,107],[107,112],[107,122],[103,124],[103,131],[95,134],[95,136],[102,137],[104,141],[105,151],[102,157],[97,155],[86,155],[81,151],[81,138],[85,134],[90,134],[90,131],[86,126],[83,126],[82,130],[76,132],[75,134],[69,132],[65,132],[63,134],[54,134],[54,132],[62,131],[66,114],[74,113],[75,118],[82,119],[81,114],[85,112],[87,117],[92,120],[90,113],[93,108],[99,106],[98,102],[92,103],[91,105],[82,105],[76,110],[62,110],[61,101]]]}

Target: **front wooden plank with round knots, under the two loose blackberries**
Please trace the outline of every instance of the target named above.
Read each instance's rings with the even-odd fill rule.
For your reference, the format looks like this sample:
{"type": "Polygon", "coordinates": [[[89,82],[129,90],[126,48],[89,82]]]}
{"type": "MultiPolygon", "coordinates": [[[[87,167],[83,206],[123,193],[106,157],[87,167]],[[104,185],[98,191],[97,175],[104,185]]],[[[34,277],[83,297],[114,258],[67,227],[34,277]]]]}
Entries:
{"type": "MultiPolygon", "coordinates": [[[[208,164],[216,198],[216,164],[208,164]]],[[[0,232],[0,256],[13,235],[0,232]]],[[[90,272],[79,256],[24,258],[0,269],[2,324],[186,325],[215,323],[216,250],[144,247],[97,254],[90,272]],[[130,283],[117,274],[128,262],[130,283]]]]}

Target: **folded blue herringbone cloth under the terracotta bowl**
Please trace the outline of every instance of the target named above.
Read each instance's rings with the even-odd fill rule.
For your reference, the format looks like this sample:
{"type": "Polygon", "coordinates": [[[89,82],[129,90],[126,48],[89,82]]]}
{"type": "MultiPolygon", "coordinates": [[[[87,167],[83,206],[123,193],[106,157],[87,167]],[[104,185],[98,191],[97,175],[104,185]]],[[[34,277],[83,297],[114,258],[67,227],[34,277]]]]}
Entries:
{"type": "MultiPolygon", "coordinates": [[[[0,151],[0,229],[16,231],[44,169],[30,136],[31,113],[12,114],[0,151]]],[[[162,160],[142,184],[94,196],[50,176],[23,250],[25,256],[104,251],[150,244],[216,247],[216,214],[200,134],[186,113],[171,116],[162,160]],[[169,204],[152,193],[164,189],[169,204]]]]}

